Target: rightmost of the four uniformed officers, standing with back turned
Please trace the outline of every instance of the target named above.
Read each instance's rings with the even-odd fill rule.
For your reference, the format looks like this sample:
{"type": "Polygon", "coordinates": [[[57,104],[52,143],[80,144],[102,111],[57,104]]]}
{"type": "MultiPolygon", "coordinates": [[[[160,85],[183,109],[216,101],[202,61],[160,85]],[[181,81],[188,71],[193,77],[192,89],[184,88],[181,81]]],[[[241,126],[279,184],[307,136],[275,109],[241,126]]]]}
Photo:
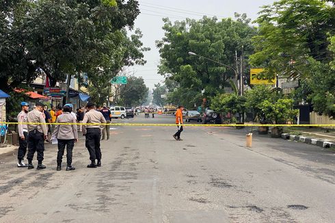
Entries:
{"type": "Polygon", "coordinates": [[[88,168],[96,168],[101,166],[100,139],[103,130],[101,124],[105,124],[106,120],[101,112],[96,111],[94,103],[89,102],[86,109],[88,112],[85,113],[83,118],[83,135],[86,137],[85,145],[90,153],[91,163],[88,168]]]}

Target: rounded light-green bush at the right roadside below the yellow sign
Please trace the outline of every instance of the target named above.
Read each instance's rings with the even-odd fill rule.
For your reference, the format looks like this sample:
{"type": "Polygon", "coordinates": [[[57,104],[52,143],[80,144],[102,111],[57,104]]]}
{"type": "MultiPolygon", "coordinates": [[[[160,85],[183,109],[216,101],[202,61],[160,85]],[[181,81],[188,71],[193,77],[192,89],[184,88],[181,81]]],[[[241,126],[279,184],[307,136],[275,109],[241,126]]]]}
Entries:
{"type": "Polygon", "coordinates": [[[265,100],[260,103],[260,109],[265,114],[267,122],[272,124],[293,122],[295,116],[299,114],[299,109],[293,109],[292,99],[278,99],[275,103],[265,100]]]}

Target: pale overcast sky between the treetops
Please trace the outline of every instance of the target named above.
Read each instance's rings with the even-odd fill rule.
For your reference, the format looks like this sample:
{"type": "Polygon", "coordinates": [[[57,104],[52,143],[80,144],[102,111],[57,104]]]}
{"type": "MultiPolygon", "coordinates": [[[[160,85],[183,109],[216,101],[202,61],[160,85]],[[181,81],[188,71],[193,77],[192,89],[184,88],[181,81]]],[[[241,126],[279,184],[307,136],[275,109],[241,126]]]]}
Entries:
{"type": "Polygon", "coordinates": [[[263,5],[270,5],[273,0],[139,0],[141,14],[135,21],[135,28],[142,30],[142,42],[150,51],[144,52],[144,66],[134,66],[128,71],[137,77],[143,77],[146,86],[152,90],[155,84],[163,83],[163,76],[157,74],[159,65],[159,51],[155,41],[164,36],[162,18],[169,17],[173,21],[185,18],[200,19],[202,16],[217,16],[217,18],[234,18],[234,13],[246,13],[252,21],[257,18],[257,13],[263,5]]]}

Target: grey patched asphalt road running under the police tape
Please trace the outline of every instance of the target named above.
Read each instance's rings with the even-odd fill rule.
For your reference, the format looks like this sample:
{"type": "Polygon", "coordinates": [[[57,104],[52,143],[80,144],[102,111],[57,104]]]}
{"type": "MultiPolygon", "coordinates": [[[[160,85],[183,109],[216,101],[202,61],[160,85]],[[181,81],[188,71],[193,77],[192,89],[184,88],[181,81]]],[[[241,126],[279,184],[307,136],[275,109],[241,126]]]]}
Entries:
{"type": "Polygon", "coordinates": [[[180,142],[175,131],[112,127],[96,169],[83,138],[73,172],[55,170],[50,144],[46,170],[0,155],[0,222],[335,222],[334,152],[257,134],[245,148],[246,129],[185,127],[180,142]]]}

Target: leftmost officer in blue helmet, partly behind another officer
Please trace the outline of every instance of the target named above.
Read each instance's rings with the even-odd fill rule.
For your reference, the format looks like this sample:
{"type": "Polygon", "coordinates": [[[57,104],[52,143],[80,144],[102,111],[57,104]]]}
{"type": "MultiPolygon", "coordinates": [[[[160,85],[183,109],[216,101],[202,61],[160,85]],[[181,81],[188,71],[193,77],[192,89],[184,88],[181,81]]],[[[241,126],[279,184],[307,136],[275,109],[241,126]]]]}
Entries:
{"type": "Polygon", "coordinates": [[[23,101],[21,107],[22,111],[18,114],[18,168],[27,167],[23,159],[27,153],[29,104],[23,101]]]}

